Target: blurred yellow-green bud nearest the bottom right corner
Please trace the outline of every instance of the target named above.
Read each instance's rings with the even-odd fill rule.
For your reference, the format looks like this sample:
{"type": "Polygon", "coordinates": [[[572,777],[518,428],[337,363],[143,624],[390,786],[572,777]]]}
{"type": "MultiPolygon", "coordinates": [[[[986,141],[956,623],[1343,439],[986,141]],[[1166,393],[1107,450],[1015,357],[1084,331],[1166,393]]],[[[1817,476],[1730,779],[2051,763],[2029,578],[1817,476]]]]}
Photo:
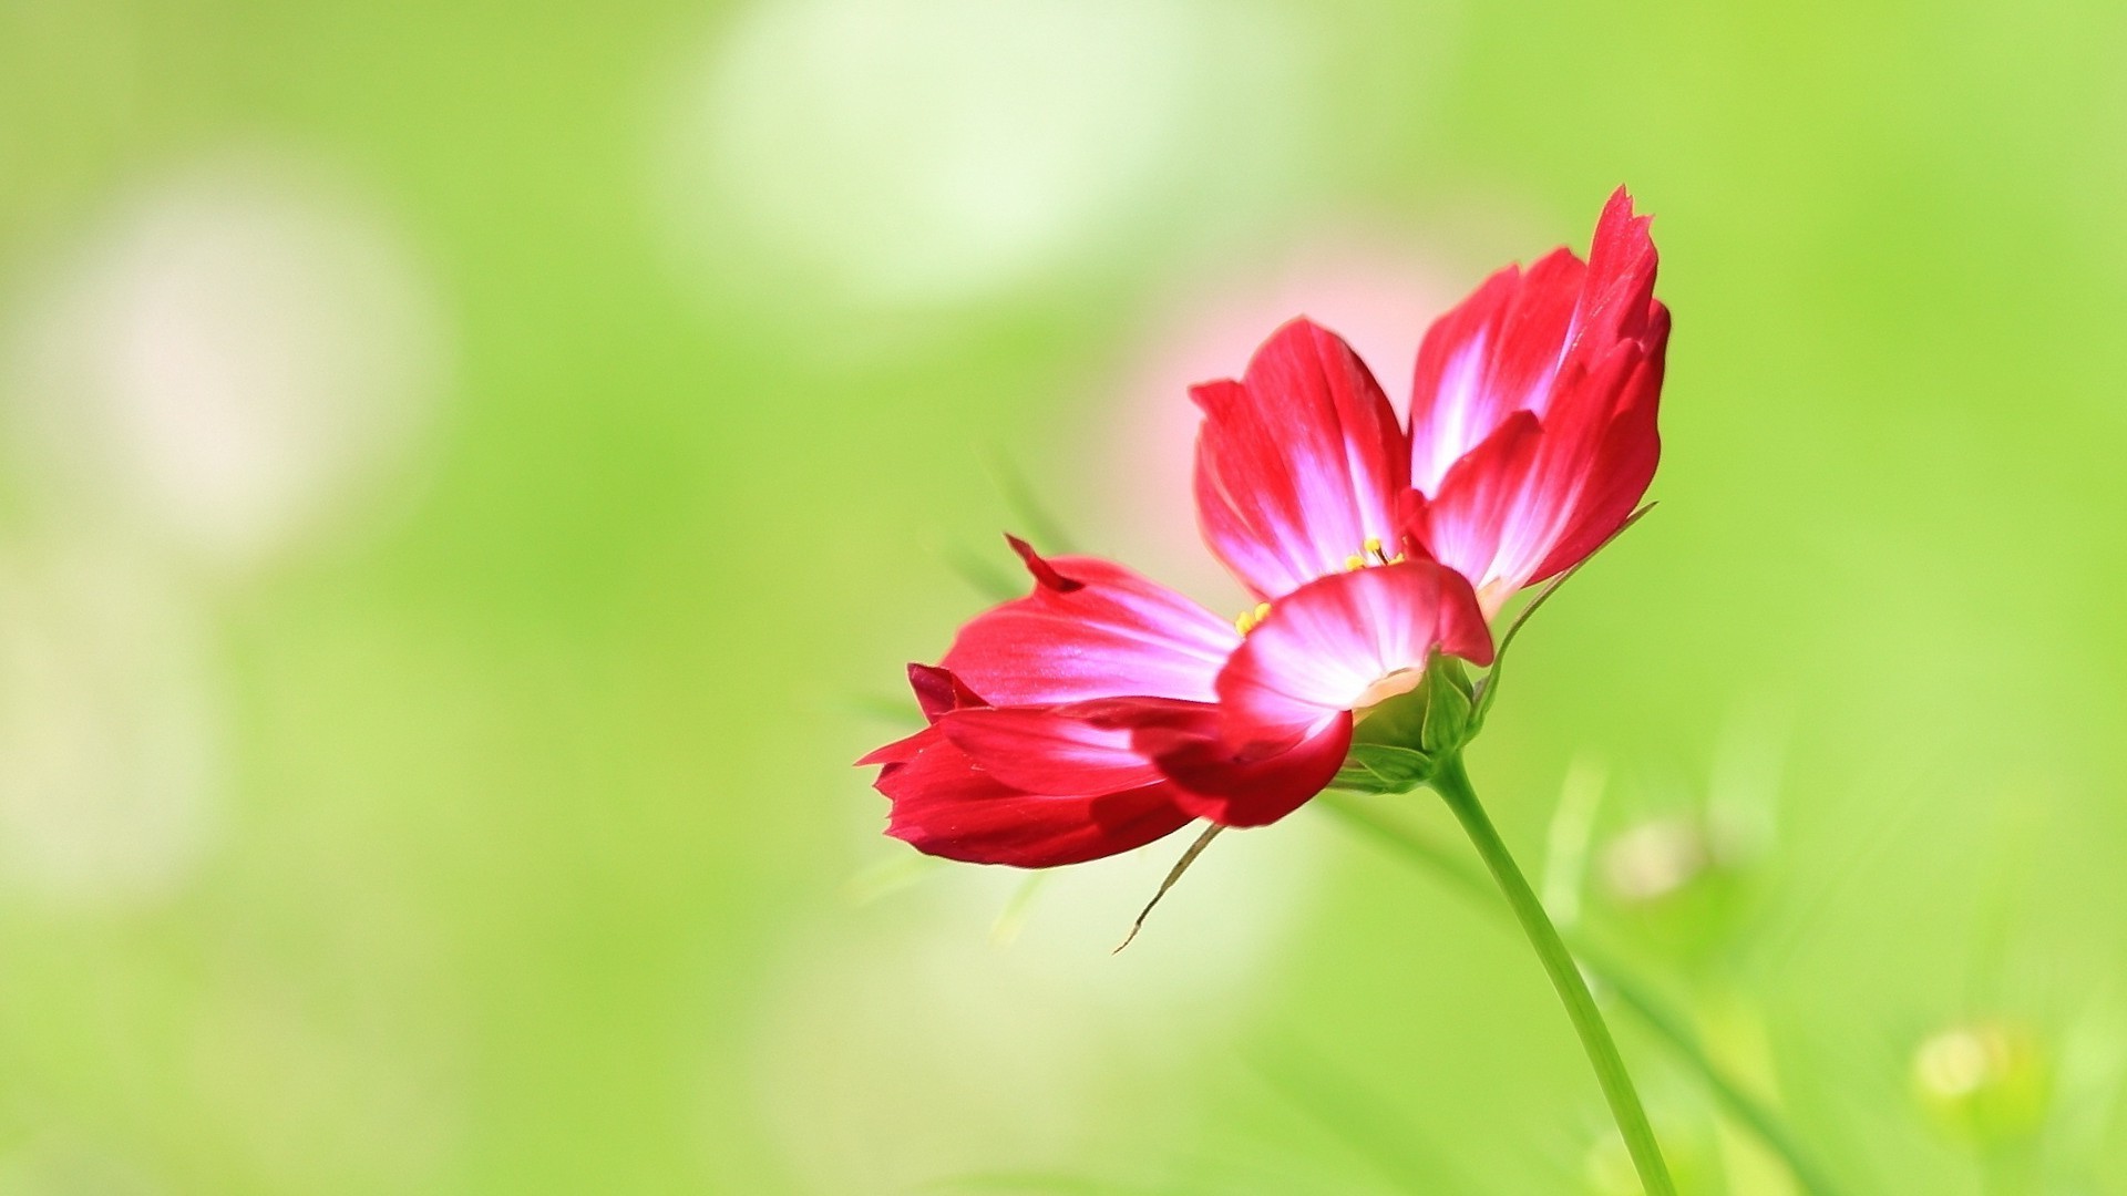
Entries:
{"type": "Polygon", "coordinates": [[[1972,1021],[1921,1043],[1912,1053],[1912,1087],[1944,1132],[1993,1147],[2038,1132],[2053,1077],[2033,1034],[2004,1021],[1972,1021]]]}

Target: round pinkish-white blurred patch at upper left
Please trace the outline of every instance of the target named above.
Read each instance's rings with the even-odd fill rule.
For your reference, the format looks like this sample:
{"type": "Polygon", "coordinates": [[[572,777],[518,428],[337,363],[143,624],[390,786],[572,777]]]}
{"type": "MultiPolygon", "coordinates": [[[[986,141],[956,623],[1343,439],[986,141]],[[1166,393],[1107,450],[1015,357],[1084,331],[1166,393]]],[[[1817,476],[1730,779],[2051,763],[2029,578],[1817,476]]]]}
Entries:
{"type": "Polygon", "coordinates": [[[21,472],[64,517],[251,564],[349,511],[430,423],[438,302],[345,185],[225,155],[121,202],[17,298],[21,472]]]}

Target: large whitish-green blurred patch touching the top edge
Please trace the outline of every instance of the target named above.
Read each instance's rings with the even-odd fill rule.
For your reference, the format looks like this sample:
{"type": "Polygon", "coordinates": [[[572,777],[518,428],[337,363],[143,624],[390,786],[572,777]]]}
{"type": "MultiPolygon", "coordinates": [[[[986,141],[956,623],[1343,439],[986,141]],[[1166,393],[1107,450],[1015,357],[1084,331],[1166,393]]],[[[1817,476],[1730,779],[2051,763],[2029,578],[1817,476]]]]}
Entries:
{"type": "Polygon", "coordinates": [[[713,272],[876,306],[981,298],[1161,211],[1276,192],[1306,106],[1291,21],[1204,0],[757,0],[668,117],[668,223],[713,272]]]}

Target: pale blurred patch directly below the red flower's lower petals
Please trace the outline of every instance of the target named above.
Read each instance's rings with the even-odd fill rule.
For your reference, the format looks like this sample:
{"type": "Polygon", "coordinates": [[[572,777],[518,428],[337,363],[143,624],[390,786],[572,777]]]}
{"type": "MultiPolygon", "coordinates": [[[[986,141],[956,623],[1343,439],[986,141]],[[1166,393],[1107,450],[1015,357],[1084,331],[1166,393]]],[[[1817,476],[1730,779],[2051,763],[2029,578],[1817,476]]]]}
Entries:
{"type": "Polygon", "coordinates": [[[1161,1158],[1189,1075],[1276,992],[1323,856],[1306,817],[1227,832],[1115,953],[1195,832],[1040,875],[938,864],[795,943],[753,1090],[804,1190],[1161,1158]]]}

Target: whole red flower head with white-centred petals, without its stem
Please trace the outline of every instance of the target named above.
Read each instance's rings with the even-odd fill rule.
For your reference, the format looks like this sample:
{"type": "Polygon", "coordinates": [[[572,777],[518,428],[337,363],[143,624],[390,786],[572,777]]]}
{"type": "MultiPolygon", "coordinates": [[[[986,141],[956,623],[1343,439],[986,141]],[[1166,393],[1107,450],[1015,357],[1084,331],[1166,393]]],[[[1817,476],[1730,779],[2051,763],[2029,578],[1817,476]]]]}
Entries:
{"type": "Polygon", "coordinates": [[[889,834],[1027,868],[1191,819],[1261,826],[1319,794],[1353,726],[1436,655],[1491,664],[1487,617],[1570,568],[1653,477],[1668,313],[1625,192],[1591,262],[1502,270],[1419,353],[1412,430],[1334,334],[1280,328],[1240,381],[1193,389],[1198,513],[1261,602],[1236,624],[1123,566],[1044,560],[944,660],[910,666],[927,726],[878,764],[889,834]]]}

